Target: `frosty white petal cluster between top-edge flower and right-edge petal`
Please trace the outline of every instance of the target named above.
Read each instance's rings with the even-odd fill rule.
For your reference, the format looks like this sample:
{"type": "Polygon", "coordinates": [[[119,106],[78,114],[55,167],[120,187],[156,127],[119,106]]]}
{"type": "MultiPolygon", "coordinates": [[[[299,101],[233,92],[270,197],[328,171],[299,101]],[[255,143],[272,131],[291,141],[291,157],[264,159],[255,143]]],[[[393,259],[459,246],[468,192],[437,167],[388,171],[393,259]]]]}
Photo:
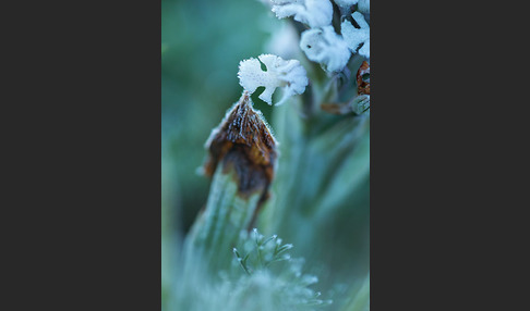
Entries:
{"type": "Polygon", "coordinates": [[[303,32],[300,48],[308,59],[321,63],[328,72],[341,71],[351,57],[348,45],[333,26],[303,32]]]}

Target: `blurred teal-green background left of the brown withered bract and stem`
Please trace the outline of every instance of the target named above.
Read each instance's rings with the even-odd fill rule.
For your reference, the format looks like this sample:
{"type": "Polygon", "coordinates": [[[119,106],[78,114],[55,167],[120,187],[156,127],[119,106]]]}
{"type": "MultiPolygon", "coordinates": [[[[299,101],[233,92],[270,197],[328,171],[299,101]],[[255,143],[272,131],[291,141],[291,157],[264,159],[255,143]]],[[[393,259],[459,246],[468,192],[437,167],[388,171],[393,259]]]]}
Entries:
{"type": "MultiPolygon", "coordinates": [[[[172,309],[179,244],[208,195],[196,174],[204,142],[241,96],[239,62],[264,53],[280,23],[257,0],[161,1],[162,309],[172,309]]],[[[270,107],[255,107],[270,120],[270,107]]]]}

